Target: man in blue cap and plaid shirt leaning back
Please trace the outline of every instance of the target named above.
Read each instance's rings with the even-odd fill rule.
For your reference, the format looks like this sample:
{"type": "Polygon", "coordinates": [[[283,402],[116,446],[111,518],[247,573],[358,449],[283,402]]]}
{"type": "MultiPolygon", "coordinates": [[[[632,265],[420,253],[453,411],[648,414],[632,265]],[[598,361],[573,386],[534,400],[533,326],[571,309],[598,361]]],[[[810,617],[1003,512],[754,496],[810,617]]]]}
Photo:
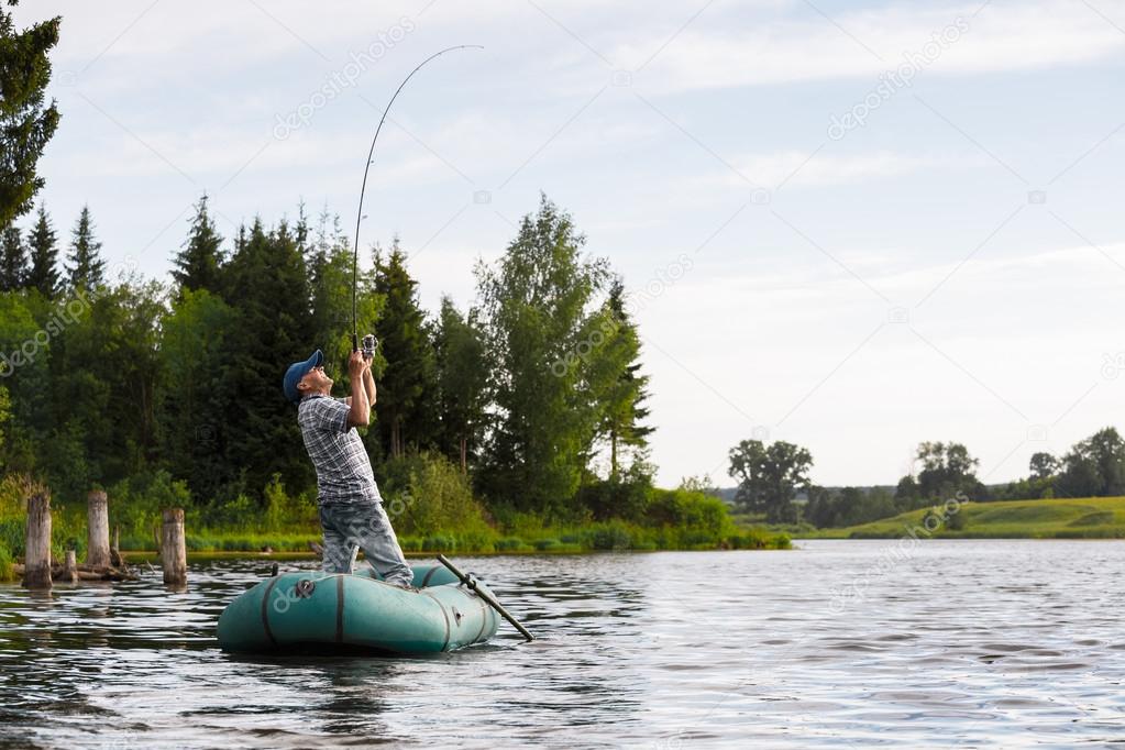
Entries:
{"type": "Polygon", "coordinates": [[[375,404],[371,363],[361,352],[348,360],[351,397],[332,398],[332,378],[316,350],[285,373],[286,398],[297,404],[297,424],[316,467],[317,504],[324,527],[325,572],[350,573],[359,548],[388,584],[410,588],[414,573],[382,509],[371,460],[356,427],[367,426],[375,404]]]}

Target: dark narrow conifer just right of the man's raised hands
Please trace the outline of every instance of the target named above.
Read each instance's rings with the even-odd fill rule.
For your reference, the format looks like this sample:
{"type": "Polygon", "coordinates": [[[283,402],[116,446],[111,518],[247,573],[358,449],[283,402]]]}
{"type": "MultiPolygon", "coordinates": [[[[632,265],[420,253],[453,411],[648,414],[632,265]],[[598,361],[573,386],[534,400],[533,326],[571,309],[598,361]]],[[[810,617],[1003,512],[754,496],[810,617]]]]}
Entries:
{"type": "Polygon", "coordinates": [[[406,270],[406,255],[395,237],[390,256],[376,254],[375,292],[384,298],[376,324],[386,368],[376,404],[379,435],[386,453],[402,455],[407,443],[429,448],[433,442],[434,362],[425,314],[418,307],[417,281],[406,270]]]}

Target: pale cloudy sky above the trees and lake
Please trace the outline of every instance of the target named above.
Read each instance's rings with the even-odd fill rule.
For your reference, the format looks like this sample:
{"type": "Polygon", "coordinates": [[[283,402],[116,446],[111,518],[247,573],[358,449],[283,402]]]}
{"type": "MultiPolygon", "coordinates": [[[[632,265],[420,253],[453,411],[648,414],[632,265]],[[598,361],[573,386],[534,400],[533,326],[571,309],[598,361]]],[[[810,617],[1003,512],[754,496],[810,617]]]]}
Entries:
{"type": "MultiPolygon", "coordinates": [[[[658,480],[742,440],[821,485],[957,441],[988,484],[1125,428],[1119,0],[24,0],[63,17],[40,198],[166,278],[304,200],[474,300],[544,193],[632,295],[658,480]]],[[[27,220],[25,220],[25,224],[27,220]]],[[[230,244],[227,245],[230,246],[230,244]]],[[[295,358],[300,352],[294,352],[295,358]]]]}

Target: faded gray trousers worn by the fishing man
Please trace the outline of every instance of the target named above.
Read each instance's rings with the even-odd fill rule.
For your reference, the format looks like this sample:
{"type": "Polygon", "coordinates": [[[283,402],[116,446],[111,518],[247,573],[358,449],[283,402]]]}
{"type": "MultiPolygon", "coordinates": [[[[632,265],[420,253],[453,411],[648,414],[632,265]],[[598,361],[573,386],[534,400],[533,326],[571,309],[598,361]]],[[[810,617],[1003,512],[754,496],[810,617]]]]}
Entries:
{"type": "Polygon", "coordinates": [[[323,503],[320,512],[324,527],[324,572],[350,573],[358,548],[388,584],[411,585],[414,571],[398,546],[382,503],[323,503]]]}

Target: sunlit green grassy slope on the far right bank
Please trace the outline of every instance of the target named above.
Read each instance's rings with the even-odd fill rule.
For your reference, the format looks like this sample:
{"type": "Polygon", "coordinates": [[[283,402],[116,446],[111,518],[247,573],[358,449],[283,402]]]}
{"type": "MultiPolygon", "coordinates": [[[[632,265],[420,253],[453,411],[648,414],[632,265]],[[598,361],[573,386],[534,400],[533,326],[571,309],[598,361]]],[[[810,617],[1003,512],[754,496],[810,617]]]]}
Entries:
{"type": "Polygon", "coordinates": [[[911,510],[846,528],[820,528],[806,539],[897,539],[910,530],[919,539],[1125,539],[1125,497],[966,503],[956,524],[922,522],[927,509],[911,510]]]}

